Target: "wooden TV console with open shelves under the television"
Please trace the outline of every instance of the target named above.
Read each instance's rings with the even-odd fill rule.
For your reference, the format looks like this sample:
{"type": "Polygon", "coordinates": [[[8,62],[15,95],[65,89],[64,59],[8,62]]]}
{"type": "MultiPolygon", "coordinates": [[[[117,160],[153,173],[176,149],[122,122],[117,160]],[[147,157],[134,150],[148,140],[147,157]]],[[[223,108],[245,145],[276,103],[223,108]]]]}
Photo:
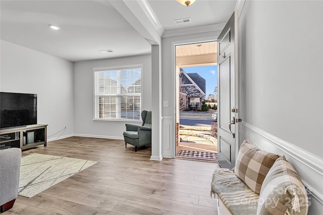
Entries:
{"type": "Polygon", "coordinates": [[[0,150],[25,150],[39,145],[47,146],[47,125],[27,125],[0,130],[0,150]]]}

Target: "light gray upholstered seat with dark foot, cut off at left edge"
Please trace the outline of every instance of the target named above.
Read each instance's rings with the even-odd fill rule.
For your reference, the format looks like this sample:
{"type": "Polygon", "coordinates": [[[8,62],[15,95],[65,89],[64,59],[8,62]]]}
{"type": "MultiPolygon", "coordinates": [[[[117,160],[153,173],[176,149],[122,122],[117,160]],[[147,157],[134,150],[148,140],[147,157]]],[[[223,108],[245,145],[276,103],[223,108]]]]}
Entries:
{"type": "Polygon", "coordinates": [[[0,205],[1,212],[14,206],[18,196],[21,149],[0,150],[0,205]]]}

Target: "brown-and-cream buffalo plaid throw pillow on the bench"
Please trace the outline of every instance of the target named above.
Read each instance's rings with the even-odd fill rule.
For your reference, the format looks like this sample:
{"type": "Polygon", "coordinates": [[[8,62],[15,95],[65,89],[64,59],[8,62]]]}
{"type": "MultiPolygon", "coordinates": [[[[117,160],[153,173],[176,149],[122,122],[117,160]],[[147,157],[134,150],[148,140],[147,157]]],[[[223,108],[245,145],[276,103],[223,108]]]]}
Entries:
{"type": "Polygon", "coordinates": [[[236,161],[235,174],[255,193],[259,194],[268,171],[280,156],[257,149],[243,141],[236,161]]]}

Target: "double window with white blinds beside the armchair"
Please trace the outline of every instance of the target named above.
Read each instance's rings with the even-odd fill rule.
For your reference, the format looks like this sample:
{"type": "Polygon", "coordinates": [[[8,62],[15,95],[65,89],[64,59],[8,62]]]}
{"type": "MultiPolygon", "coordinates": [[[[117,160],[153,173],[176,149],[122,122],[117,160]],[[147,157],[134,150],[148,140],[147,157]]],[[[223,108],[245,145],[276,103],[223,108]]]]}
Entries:
{"type": "Polygon", "coordinates": [[[94,69],[94,119],[140,120],[141,66],[94,69]]]}

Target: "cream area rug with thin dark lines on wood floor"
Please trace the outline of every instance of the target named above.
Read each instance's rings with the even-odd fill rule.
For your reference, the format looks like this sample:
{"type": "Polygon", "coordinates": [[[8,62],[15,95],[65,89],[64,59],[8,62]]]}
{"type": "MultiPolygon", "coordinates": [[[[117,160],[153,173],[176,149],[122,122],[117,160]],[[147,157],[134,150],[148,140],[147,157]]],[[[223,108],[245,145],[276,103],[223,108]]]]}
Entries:
{"type": "Polygon", "coordinates": [[[96,163],[41,154],[22,157],[18,194],[30,198],[96,163]]]}

